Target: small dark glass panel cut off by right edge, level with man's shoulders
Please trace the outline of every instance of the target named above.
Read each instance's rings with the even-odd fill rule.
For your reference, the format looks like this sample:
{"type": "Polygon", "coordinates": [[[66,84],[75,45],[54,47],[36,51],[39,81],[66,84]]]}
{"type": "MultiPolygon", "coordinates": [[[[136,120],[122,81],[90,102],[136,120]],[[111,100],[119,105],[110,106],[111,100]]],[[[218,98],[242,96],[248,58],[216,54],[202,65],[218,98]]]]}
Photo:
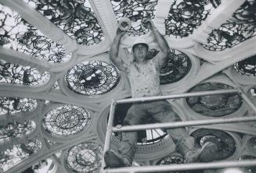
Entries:
{"type": "Polygon", "coordinates": [[[256,55],[233,65],[236,72],[245,76],[256,76],[256,55]]]}

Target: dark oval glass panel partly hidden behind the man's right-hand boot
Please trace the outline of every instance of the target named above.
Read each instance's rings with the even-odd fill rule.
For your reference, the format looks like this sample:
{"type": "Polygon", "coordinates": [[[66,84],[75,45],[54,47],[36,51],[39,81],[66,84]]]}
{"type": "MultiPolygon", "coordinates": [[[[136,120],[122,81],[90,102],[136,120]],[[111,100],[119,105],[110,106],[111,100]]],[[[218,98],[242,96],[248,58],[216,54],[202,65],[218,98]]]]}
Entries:
{"type": "Polygon", "coordinates": [[[196,138],[196,143],[201,147],[204,143],[211,142],[217,147],[214,155],[215,161],[226,159],[236,151],[236,142],[227,132],[218,129],[198,129],[191,134],[196,138]]]}

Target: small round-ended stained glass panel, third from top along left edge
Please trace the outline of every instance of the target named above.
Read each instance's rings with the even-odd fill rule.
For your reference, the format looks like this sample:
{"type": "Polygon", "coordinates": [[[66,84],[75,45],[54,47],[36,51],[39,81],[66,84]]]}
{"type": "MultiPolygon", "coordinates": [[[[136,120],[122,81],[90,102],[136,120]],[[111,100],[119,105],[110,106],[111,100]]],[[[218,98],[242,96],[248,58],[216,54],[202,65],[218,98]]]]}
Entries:
{"type": "Polygon", "coordinates": [[[30,98],[0,97],[0,115],[33,111],[38,102],[30,98]]]}

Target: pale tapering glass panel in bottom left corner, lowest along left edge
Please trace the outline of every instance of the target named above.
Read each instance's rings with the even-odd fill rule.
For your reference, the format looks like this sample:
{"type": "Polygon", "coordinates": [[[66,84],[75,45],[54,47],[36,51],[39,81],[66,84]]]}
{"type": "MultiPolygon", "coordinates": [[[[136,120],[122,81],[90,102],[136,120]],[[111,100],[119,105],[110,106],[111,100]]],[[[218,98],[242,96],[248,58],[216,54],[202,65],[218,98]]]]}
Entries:
{"type": "Polygon", "coordinates": [[[13,168],[41,149],[41,142],[37,139],[29,143],[14,145],[7,150],[0,151],[0,172],[13,168]]]}

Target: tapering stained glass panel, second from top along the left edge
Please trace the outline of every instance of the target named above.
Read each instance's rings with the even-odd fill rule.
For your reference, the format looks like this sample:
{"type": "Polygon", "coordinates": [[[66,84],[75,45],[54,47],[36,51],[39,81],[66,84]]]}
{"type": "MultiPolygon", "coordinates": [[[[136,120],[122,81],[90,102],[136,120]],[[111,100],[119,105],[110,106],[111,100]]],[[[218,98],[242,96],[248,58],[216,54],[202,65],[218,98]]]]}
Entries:
{"type": "Polygon", "coordinates": [[[49,72],[41,73],[31,66],[12,64],[0,59],[0,83],[34,86],[46,83],[49,78],[49,72]]]}

